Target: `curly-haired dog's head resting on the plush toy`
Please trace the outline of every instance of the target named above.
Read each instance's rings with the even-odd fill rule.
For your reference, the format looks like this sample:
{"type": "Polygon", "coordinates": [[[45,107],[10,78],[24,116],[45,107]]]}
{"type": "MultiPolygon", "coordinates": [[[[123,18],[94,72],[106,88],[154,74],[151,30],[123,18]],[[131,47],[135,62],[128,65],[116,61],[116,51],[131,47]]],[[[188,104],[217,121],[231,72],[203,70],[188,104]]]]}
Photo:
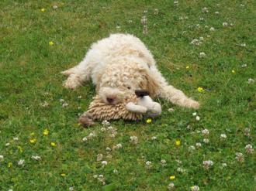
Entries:
{"type": "MultiPolygon", "coordinates": [[[[104,77],[102,77],[104,79],[104,77]]],[[[147,69],[137,69],[134,73],[115,73],[109,80],[102,80],[97,87],[99,97],[106,104],[118,104],[135,90],[147,90],[150,97],[157,94],[157,84],[147,69]]]]}

